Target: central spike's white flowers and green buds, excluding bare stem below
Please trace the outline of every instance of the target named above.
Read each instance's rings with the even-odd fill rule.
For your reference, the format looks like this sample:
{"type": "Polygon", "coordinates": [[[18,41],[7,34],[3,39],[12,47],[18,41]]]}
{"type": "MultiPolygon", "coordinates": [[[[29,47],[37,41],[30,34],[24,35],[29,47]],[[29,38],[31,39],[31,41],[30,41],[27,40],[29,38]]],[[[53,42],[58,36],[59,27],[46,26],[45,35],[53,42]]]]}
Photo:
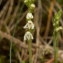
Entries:
{"type": "Polygon", "coordinates": [[[23,27],[24,29],[28,29],[28,31],[27,31],[27,32],[25,33],[25,35],[24,35],[24,41],[25,41],[25,40],[30,40],[30,39],[32,39],[32,37],[33,37],[31,30],[34,29],[34,24],[33,24],[33,22],[32,22],[33,14],[32,14],[32,12],[31,12],[31,10],[35,8],[35,5],[34,5],[32,2],[33,2],[32,0],[24,0],[24,3],[25,3],[26,5],[29,3],[29,5],[27,5],[28,8],[29,8],[29,9],[28,9],[29,12],[28,12],[27,15],[26,15],[27,23],[26,23],[26,25],[23,27]],[[31,2],[31,3],[30,3],[30,2],[31,2]],[[29,37],[30,37],[30,38],[29,38],[29,37]]]}

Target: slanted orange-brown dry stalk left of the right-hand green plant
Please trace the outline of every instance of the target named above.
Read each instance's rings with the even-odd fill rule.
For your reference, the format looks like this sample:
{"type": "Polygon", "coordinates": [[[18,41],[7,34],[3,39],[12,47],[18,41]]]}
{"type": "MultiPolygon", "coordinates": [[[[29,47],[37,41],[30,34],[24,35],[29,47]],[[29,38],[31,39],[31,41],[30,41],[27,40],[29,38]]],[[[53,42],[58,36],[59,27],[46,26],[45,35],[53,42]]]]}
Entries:
{"type": "Polygon", "coordinates": [[[52,12],[53,12],[53,9],[54,9],[54,5],[55,5],[55,0],[53,0],[50,4],[47,26],[46,26],[44,37],[46,37],[48,35],[49,29],[50,29],[50,23],[51,23],[51,18],[52,18],[52,12]]]}

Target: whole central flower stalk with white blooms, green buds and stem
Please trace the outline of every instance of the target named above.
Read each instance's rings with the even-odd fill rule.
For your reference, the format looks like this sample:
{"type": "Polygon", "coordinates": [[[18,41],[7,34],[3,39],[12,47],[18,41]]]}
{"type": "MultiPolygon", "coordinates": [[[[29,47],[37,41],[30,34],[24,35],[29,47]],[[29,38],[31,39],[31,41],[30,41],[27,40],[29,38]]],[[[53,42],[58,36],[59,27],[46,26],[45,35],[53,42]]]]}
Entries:
{"type": "Polygon", "coordinates": [[[23,28],[27,29],[27,31],[24,35],[24,41],[27,41],[28,46],[29,46],[29,63],[33,63],[32,62],[32,45],[31,45],[32,39],[33,39],[32,30],[34,30],[34,23],[32,21],[33,20],[32,11],[35,8],[35,4],[33,4],[33,2],[34,2],[34,0],[24,0],[24,3],[28,7],[28,13],[26,15],[27,23],[23,28]]]}

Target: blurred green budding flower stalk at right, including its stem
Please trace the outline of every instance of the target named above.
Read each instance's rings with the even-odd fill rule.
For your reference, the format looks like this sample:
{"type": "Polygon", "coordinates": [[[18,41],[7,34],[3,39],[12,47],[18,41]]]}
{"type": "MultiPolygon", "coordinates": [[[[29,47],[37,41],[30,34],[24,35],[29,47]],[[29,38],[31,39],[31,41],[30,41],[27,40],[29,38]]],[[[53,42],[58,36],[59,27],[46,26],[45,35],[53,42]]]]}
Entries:
{"type": "Polygon", "coordinates": [[[54,63],[58,63],[58,38],[59,38],[59,30],[62,29],[61,26],[59,26],[60,18],[61,18],[62,11],[58,11],[58,13],[55,14],[53,19],[53,46],[54,46],[54,63]]]}

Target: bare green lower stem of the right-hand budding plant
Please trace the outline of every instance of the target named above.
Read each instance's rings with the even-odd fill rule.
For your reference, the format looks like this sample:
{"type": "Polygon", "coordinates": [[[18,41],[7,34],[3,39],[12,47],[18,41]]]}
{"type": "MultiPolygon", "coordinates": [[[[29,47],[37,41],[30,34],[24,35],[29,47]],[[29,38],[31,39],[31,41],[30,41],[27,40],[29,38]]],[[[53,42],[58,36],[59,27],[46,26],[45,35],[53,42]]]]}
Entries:
{"type": "Polygon", "coordinates": [[[58,32],[56,32],[54,34],[54,41],[53,41],[53,46],[54,46],[54,63],[58,63],[58,35],[59,35],[58,32]]]}

